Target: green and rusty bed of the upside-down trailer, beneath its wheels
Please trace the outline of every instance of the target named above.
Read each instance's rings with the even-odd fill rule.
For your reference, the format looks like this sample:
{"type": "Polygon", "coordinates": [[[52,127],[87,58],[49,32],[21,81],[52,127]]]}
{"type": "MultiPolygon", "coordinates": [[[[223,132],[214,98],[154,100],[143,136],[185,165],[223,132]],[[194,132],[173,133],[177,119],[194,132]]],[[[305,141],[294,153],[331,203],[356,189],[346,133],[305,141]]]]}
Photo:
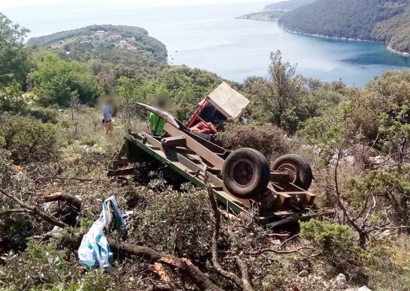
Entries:
{"type": "MultiPolygon", "coordinates": [[[[168,141],[170,143],[173,140],[168,141]]],[[[287,187],[288,190],[285,190],[279,184],[270,183],[269,189],[273,195],[258,200],[237,198],[224,187],[223,181],[218,177],[220,171],[209,167],[206,161],[193,150],[178,146],[178,142],[173,147],[166,148],[161,142],[161,138],[147,133],[129,133],[125,136],[125,143],[114,159],[108,176],[132,175],[135,173],[135,169],[133,167],[127,168],[127,166],[135,162],[146,161],[149,157],[158,160],[199,188],[207,188],[210,184],[214,196],[227,207],[227,211],[239,214],[252,208],[259,209],[260,215],[257,220],[262,224],[273,227],[283,224],[278,221],[292,222],[310,219],[312,215],[319,215],[312,212],[308,214],[308,211],[298,206],[283,207],[287,200],[295,198],[295,196],[308,199],[310,201],[304,202],[313,204],[315,195],[293,184],[290,184],[287,187]]]]}

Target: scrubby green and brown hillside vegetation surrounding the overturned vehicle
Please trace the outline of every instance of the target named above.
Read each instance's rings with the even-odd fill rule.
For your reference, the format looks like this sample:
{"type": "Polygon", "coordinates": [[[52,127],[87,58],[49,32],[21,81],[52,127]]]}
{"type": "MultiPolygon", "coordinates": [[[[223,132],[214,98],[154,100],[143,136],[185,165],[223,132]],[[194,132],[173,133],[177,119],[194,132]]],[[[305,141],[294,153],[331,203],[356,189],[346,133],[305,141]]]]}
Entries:
{"type": "Polygon", "coordinates": [[[218,142],[271,160],[302,155],[315,209],[335,212],[296,234],[272,231],[254,223],[257,212],[232,216],[204,190],[176,190],[163,164],[136,164],[126,183],[106,177],[127,129],[147,130],[134,101],[167,94],[186,120],[220,77],[185,66],[98,70],[101,60],[81,54],[32,52],[27,30],[0,16],[1,289],[410,289],[410,71],[360,89],[298,75],[277,51],[267,78],[230,83],[251,100],[249,122],[229,121],[218,142]],[[104,92],[119,97],[109,137],[94,107],[104,92]],[[111,195],[130,215],[128,231],[107,230],[111,269],[81,267],[80,240],[111,195]]]}

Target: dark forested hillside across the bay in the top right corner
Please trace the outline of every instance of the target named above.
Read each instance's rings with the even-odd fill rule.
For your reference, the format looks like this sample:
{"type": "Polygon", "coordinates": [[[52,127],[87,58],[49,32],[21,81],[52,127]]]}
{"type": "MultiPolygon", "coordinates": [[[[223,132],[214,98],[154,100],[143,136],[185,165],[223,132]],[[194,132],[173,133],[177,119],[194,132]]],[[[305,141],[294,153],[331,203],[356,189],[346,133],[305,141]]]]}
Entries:
{"type": "Polygon", "coordinates": [[[338,38],[392,41],[408,52],[408,0],[318,0],[284,14],[290,31],[338,38]]]}

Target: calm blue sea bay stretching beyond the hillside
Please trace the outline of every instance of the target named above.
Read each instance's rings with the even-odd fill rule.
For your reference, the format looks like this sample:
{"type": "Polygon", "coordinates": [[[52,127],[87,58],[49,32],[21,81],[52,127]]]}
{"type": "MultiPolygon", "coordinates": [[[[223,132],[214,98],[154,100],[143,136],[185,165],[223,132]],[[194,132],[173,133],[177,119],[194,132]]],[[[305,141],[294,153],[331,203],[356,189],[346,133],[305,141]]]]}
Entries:
{"type": "Polygon", "coordinates": [[[2,12],[31,29],[29,36],[92,24],[143,27],[167,46],[170,64],[207,69],[234,81],[267,76],[269,54],[276,50],[282,51],[285,60],[298,64],[298,73],[323,81],[341,78],[357,86],[384,70],[410,67],[410,57],[388,51],[385,44],[298,35],[274,22],[234,18],[259,11],[265,4],[148,8],[84,1],[2,12]]]}

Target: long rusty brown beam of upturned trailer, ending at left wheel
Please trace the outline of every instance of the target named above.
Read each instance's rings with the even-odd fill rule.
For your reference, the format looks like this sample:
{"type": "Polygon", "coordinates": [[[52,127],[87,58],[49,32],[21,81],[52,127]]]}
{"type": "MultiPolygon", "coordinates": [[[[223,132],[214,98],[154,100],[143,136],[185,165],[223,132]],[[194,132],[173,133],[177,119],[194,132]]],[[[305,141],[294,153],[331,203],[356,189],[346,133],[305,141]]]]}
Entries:
{"type": "Polygon", "coordinates": [[[211,165],[213,165],[215,168],[218,170],[222,171],[223,168],[223,163],[225,162],[221,157],[217,156],[215,153],[207,149],[206,147],[202,146],[199,142],[194,140],[192,137],[190,137],[188,134],[186,134],[183,131],[180,131],[176,128],[174,128],[171,124],[166,123],[164,130],[171,136],[179,136],[183,135],[187,139],[187,146],[191,150],[193,150],[196,154],[201,156],[204,160],[209,162],[211,165]]]}

